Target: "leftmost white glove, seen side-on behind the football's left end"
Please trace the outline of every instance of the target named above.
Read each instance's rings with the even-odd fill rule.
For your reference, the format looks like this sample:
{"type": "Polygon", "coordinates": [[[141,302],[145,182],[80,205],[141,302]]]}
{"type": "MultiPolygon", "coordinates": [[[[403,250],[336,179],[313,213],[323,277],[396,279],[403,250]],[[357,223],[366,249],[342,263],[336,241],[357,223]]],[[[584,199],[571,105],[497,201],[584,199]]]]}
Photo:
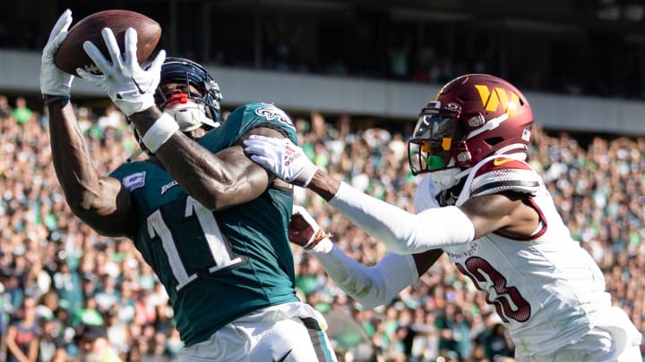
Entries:
{"type": "Polygon", "coordinates": [[[54,63],[54,55],[64,38],[67,38],[71,24],[72,11],[67,9],[56,21],[43,48],[40,62],[40,92],[43,95],[69,97],[72,90],[73,75],[61,71],[54,63]]]}

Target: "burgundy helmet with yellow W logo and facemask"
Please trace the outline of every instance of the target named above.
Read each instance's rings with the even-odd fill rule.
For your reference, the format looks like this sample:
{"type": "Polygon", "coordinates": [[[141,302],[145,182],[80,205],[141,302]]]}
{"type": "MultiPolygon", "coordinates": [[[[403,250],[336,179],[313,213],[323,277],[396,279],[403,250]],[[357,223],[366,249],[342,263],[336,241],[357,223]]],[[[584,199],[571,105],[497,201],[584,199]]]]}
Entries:
{"type": "Polygon", "coordinates": [[[448,82],[419,114],[408,141],[412,173],[468,169],[486,156],[527,152],[533,111],[506,80],[488,74],[448,82]]]}

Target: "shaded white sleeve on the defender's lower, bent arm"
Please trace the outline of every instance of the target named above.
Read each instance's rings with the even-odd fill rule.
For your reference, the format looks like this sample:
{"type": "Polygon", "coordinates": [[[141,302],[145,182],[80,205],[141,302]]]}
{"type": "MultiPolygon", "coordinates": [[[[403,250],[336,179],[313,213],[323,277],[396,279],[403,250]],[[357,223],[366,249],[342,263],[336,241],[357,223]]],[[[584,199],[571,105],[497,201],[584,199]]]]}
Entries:
{"type": "MultiPolygon", "coordinates": [[[[331,243],[331,240],[323,242],[331,243]]],[[[307,252],[320,260],[325,272],[340,289],[367,308],[389,303],[418,279],[417,265],[410,255],[388,253],[376,265],[366,266],[335,245],[307,252]],[[321,249],[323,251],[317,251],[321,249]]]]}

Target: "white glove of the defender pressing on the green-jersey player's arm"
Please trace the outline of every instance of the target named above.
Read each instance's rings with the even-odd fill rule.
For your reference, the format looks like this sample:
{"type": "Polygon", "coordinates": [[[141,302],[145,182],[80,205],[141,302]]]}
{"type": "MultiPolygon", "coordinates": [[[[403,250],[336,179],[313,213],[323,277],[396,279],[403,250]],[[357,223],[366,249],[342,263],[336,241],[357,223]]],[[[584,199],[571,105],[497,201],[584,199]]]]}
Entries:
{"type": "Polygon", "coordinates": [[[245,139],[244,147],[245,154],[256,164],[261,164],[280,179],[297,186],[306,187],[318,170],[302,148],[289,139],[251,135],[245,139]]]}

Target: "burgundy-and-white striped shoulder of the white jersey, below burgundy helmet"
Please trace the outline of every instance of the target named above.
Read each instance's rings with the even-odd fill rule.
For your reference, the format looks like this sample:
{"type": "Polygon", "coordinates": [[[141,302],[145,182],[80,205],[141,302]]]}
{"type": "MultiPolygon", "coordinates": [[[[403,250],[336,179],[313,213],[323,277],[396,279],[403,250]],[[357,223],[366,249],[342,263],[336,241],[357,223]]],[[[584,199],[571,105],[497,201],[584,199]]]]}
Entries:
{"type": "Polygon", "coordinates": [[[477,167],[469,185],[471,198],[503,191],[535,195],[542,180],[524,161],[507,156],[485,160],[477,167]]]}

